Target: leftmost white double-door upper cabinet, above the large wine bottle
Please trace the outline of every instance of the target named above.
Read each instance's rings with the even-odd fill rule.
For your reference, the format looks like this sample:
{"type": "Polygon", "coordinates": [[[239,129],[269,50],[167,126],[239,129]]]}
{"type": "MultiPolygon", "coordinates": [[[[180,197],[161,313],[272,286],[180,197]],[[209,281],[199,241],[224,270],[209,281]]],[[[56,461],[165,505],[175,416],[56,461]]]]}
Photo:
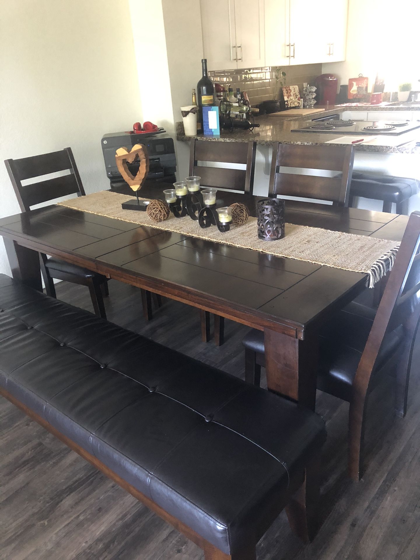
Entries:
{"type": "Polygon", "coordinates": [[[200,0],[209,70],[264,66],[264,0],[200,0]]]}

